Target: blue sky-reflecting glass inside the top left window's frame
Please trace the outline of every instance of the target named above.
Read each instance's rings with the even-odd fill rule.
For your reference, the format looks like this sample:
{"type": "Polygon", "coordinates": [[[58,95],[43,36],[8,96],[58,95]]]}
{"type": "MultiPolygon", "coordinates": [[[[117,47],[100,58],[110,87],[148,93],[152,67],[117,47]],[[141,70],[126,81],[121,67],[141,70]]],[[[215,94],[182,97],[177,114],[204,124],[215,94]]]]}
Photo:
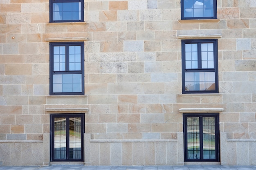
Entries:
{"type": "Polygon", "coordinates": [[[81,2],[53,3],[53,20],[81,20],[81,2]]]}

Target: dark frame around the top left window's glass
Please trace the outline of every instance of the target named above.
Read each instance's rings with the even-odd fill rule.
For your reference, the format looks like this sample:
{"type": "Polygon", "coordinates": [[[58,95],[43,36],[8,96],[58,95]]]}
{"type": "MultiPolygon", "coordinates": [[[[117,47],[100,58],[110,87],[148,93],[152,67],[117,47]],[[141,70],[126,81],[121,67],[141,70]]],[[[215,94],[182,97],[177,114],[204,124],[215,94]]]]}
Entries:
{"type": "Polygon", "coordinates": [[[84,0],[50,0],[49,14],[49,22],[84,22],[84,0]],[[53,20],[53,4],[62,2],[81,2],[81,20],[53,20]]]}

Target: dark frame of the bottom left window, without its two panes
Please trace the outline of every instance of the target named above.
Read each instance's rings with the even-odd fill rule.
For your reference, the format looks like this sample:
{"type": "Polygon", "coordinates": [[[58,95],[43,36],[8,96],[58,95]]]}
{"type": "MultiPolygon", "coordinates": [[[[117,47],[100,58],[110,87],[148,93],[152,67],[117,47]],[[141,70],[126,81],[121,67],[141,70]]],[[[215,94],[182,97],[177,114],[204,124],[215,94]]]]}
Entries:
{"type": "MultiPolygon", "coordinates": [[[[69,121],[66,124],[66,144],[69,146],[69,121]]],[[[85,116],[84,113],[64,113],[64,114],[50,114],[50,161],[84,161],[84,133],[85,133],[85,116]],[[66,150],[66,159],[54,159],[54,118],[65,117],[66,120],[70,117],[81,117],[81,159],[69,159],[69,147],[66,150]]]]}

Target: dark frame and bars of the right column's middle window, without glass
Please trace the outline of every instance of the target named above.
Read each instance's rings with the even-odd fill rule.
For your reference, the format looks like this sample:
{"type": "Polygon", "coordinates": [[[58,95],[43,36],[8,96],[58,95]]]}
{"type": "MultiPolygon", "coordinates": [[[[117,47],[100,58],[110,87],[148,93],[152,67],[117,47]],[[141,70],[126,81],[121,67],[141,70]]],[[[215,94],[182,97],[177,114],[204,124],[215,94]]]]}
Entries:
{"type": "Polygon", "coordinates": [[[219,93],[218,89],[218,40],[217,39],[207,39],[207,40],[182,40],[182,93],[219,93]],[[203,43],[213,43],[213,58],[214,58],[214,68],[201,68],[200,62],[202,62],[201,58],[201,44],[203,43]],[[198,45],[198,68],[186,68],[186,58],[185,58],[185,45],[186,44],[199,44],[198,45]],[[215,73],[215,90],[205,90],[205,91],[186,91],[185,85],[185,73],[189,72],[214,72],[215,73]]]}

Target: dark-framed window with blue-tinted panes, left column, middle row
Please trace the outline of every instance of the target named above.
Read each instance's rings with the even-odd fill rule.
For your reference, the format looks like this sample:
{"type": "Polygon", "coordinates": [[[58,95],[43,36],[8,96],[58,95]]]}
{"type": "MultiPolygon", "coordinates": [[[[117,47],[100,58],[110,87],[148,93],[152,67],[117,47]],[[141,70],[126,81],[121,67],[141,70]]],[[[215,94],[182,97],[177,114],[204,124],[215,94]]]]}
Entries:
{"type": "Polygon", "coordinates": [[[84,94],[84,43],[50,43],[50,95],[84,94]]]}

